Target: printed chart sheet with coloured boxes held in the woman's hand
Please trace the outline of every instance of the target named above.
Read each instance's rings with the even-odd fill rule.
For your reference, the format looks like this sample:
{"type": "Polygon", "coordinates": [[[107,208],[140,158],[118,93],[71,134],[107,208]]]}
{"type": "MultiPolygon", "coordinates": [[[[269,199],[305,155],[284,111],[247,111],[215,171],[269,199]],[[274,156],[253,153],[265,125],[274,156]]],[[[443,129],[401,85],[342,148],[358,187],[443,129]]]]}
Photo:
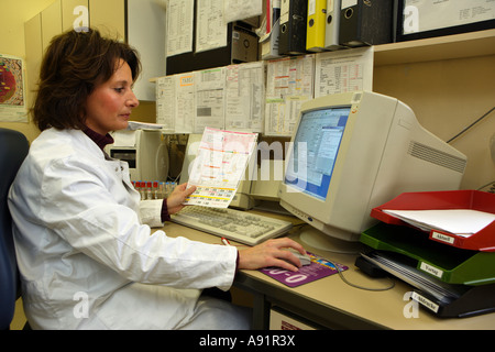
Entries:
{"type": "Polygon", "coordinates": [[[227,208],[244,177],[256,140],[256,133],[206,128],[189,172],[188,187],[197,189],[184,204],[227,208]]]}

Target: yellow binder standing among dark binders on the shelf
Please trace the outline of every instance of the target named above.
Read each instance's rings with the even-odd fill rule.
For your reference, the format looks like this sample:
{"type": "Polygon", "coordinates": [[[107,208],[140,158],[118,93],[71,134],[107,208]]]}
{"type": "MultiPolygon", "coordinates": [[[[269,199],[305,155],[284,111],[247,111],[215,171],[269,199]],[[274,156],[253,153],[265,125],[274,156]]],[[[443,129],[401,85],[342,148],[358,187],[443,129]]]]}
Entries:
{"type": "Polygon", "coordinates": [[[324,33],[327,21],[327,0],[308,0],[308,26],[306,33],[306,50],[322,52],[324,50],[324,33]]]}

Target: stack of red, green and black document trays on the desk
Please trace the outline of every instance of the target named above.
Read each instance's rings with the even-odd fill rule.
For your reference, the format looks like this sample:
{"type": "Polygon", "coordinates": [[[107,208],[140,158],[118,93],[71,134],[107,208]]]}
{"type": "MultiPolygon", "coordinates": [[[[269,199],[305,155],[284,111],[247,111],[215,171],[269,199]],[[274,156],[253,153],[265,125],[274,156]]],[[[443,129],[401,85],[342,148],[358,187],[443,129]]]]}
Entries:
{"type": "Polygon", "coordinates": [[[364,231],[372,248],[361,260],[415,287],[414,299],[440,317],[495,311],[495,221],[472,233],[413,226],[387,210],[477,210],[495,215],[495,195],[468,191],[403,194],[373,209],[382,222],[364,231]]]}

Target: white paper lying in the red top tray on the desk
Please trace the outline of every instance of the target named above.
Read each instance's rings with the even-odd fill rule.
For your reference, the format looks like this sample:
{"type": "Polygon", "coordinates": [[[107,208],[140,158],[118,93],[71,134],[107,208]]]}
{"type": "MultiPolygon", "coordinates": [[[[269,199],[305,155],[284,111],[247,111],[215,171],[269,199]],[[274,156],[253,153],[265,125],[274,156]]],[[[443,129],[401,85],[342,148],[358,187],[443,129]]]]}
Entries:
{"type": "Polygon", "coordinates": [[[384,210],[424,231],[446,231],[470,237],[495,221],[495,215],[471,209],[384,210]]]}

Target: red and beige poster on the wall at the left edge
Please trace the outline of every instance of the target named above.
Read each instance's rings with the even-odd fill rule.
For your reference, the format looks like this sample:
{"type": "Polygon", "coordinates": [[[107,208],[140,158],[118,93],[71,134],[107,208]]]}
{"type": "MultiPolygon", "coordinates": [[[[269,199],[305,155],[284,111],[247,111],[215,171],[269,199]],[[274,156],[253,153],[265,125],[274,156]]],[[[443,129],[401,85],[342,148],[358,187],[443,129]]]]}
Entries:
{"type": "Polygon", "coordinates": [[[28,122],[24,61],[0,54],[0,122],[28,122]]]}

